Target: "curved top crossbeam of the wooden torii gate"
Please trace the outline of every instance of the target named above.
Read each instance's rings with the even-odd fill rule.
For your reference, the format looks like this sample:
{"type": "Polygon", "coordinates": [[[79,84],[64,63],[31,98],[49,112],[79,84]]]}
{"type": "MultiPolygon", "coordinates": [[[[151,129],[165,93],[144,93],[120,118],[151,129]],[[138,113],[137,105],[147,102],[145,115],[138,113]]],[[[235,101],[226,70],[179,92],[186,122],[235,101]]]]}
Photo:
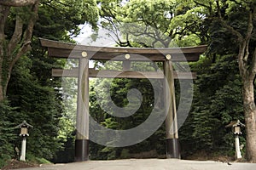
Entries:
{"type": "Polygon", "coordinates": [[[48,54],[51,57],[59,58],[81,58],[81,53],[86,52],[90,59],[95,60],[124,60],[119,57],[124,54],[130,54],[129,60],[140,61],[150,59],[152,61],[166,61],[166,54],[172,55],[172,61],[197,61],[200,54],[204,53],[207,46],[197,46],[189,48],[117,48],[117,47],[95,47],[77,45],[67,42],[56,42],[40,38],[43,47],[48,48],[48,54]],[[184,57],[183,57],[184,56],[184,57]]]}

